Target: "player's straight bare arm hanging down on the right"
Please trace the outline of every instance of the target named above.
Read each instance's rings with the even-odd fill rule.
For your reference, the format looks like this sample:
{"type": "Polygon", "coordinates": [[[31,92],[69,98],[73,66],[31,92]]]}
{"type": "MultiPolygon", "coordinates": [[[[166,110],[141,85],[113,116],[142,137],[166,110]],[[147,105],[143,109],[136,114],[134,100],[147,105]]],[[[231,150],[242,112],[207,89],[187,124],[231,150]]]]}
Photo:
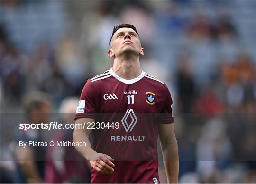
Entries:
{"type": "Polygon", "coordinates": [[[158,134],[168,183],[178,183],[179,155],[174,123],[158,124],[158,134]]]}

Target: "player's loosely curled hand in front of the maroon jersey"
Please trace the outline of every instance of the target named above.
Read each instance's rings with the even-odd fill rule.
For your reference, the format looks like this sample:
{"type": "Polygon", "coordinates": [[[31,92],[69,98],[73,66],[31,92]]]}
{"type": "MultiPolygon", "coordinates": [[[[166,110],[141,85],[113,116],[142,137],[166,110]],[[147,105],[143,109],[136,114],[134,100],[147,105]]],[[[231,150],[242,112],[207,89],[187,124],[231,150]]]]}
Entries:
{"type": "Polygon", "coordinates": [[[115,165],[113,164],[110,156],[103,153],[93,153],[90,158],[88,158],[91,167],[101,174],[111,174],[114,172],[115,165]]]}

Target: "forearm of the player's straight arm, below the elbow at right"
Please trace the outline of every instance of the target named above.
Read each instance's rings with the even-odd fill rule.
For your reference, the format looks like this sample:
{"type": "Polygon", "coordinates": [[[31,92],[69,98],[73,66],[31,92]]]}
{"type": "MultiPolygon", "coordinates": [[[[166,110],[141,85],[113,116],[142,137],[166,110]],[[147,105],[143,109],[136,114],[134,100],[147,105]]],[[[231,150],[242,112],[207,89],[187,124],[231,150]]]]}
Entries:
{"type": "Polygon", "coordinates": [[[168,183],[178,183],[179,155],[176,139],[161,145],[168,183]]]}

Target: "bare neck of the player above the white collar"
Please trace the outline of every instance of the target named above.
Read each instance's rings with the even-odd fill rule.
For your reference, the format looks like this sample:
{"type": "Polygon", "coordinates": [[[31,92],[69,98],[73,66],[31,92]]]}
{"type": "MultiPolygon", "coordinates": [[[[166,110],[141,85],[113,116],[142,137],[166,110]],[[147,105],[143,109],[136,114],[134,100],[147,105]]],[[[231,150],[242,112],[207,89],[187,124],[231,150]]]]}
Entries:
{"type": "Polygon", "coordinates": [[[115,58],[113,71],[123,79],[134,79],[141,74],[139,58],[115,58]]]}

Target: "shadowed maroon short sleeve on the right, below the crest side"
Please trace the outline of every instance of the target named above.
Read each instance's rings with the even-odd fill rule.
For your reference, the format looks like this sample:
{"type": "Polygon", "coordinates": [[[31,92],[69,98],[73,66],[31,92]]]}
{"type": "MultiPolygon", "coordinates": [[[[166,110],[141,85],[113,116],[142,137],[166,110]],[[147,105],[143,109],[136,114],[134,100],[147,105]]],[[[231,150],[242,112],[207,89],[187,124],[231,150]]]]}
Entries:
{"type": "Polygon", "coordinates": [[[164,107],[161,111],[161,114],[158,117],[158,122],[163,124],[174,123],[173,109],[172,109],[173,100],[169,89],[166,87],[166,100],[164,107]]]}

